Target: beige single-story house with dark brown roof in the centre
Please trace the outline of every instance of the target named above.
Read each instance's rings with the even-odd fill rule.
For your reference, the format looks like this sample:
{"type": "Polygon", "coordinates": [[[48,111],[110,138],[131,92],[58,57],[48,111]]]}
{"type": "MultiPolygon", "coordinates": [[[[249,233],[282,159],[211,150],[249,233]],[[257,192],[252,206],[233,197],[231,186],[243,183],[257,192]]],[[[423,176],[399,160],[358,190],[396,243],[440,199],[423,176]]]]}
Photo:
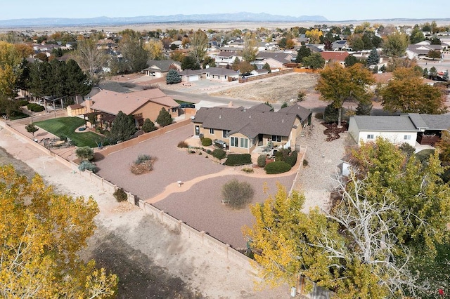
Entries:
{"type": "Polygon", "coordinates": [[[298,104],[278,112],[259,104],[245,107],[201,107],[193,117],[194,135],[221,140],[230,152],[251,153],[257,146],[291,147],[310,124],[311,111],[298,104]]]}

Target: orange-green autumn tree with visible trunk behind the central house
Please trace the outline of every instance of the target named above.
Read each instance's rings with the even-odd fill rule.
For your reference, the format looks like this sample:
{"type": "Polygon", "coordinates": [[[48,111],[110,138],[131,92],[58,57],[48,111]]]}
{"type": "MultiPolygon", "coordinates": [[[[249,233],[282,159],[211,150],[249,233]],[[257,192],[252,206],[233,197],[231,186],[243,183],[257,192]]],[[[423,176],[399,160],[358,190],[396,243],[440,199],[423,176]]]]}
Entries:
{"type": "Polygon", "coordinates": [[[339,109],[338,126],[341,126],[345,101],[369,102],[371,99],[368,86],[374,83],[373,74],[359,63],[351,67],[331,63],[321,70],[320,75],[316,91],[321,93],[321,100],[331,102],[339,109]]]}

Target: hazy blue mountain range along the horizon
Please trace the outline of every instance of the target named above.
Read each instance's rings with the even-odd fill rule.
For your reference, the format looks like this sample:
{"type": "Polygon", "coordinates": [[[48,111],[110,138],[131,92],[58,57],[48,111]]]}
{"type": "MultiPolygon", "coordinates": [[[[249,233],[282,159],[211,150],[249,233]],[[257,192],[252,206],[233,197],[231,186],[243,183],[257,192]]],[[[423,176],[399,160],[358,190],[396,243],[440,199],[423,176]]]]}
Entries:
{"type": "Polygon", "coordinates": [[[209,15],[148,15],[131,18],[33,18],[0,20],[0,27],[67,27],[131,25],[167,22],[327,22],[321,15],[271,15],[269,13],[212,13],[209,15]]]}

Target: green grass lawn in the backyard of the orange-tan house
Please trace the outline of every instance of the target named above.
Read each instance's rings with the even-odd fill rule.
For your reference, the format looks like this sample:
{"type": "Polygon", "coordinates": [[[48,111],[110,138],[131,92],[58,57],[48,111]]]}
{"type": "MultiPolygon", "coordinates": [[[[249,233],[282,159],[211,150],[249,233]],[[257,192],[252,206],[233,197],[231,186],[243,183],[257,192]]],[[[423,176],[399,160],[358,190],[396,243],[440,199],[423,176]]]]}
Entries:
{"type": "Polygon", "coordinates": [[[97,147],[96,141],[103,140],[101,135],[93,132],[75,133],[75,130],[84,125],[84,120],[79,117],[60,117],[34,123],[39,128],[58,136],[70,138],[77,147],[97,147]]]}

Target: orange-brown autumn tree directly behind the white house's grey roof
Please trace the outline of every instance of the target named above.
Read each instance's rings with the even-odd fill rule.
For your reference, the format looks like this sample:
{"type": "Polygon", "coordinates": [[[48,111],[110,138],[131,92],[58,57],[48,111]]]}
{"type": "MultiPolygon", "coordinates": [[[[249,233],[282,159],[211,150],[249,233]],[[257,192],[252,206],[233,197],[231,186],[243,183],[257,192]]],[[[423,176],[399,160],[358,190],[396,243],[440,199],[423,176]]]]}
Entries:
{"type": "Polygon", "coordinates": [[[439,88],[425,84],[422,72],[413,68],[399,68],[394,79],[381,89],[383,109],[390,112],[442,114],[445,99],[439,88]]]}

